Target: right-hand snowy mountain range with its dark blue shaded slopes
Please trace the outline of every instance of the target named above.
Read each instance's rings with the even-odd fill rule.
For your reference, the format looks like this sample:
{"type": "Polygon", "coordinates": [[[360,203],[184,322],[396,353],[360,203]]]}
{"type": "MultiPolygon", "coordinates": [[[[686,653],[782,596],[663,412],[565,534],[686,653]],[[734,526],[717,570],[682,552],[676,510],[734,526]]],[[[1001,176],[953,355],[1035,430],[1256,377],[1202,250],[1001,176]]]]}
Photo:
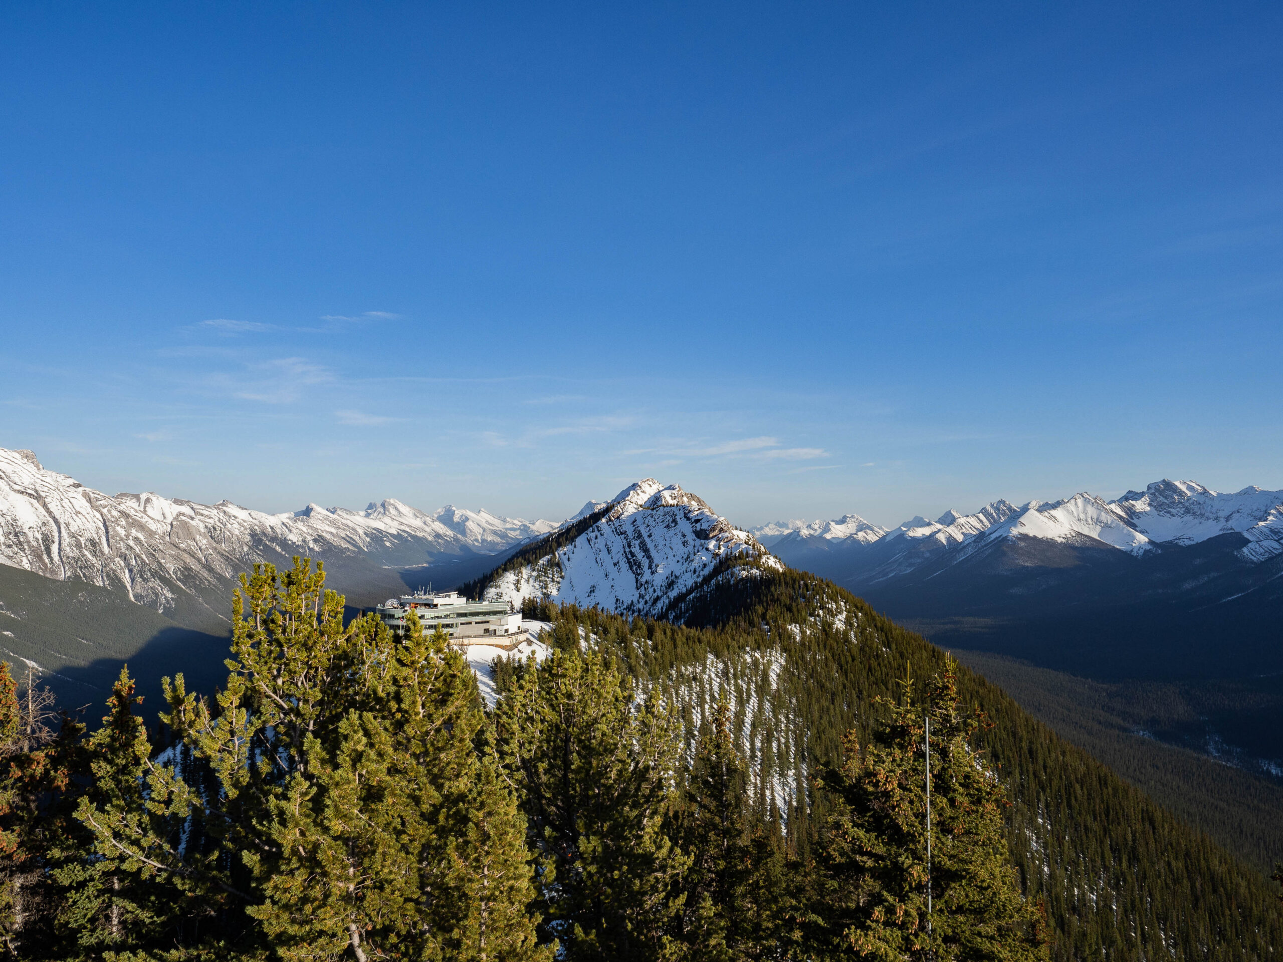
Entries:
{"type": "Polygon", "coordinates": [[[1283,491],[1165,480],[890,530],[847,514],[753,534],[946,646],[1103,679],[1283,671],[1283,491]]]}

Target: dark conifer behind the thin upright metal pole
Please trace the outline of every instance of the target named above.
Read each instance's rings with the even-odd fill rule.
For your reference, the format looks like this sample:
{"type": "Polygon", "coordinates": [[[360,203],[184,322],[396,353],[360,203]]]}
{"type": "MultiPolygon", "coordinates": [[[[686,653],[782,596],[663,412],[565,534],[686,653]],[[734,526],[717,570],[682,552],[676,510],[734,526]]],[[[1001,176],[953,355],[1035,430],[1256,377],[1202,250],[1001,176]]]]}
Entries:
{"type": "Polygon", "coordinates": [[[1021,898],[996,772],[970,744],[983,716],[958,709],[953,662],[863,750],[849,739],[817,788],[835,802],[819,858],[817,943],[830,958],[1037,959],[1042,917],[1021,898]],[[925,717],[931,720],[928,863],[925,717]]]}

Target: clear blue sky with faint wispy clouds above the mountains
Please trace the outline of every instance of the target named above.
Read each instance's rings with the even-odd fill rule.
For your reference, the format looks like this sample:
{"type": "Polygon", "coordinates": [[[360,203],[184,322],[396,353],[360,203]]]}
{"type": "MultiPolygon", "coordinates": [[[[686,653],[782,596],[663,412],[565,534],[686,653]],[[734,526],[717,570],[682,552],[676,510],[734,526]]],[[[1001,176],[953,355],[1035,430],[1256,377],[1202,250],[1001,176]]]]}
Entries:
{"type": "Polygon", "coordinates": [[[740,523],[1283,487],[1274,4],[6,4],[0,446],[740,523]]]}

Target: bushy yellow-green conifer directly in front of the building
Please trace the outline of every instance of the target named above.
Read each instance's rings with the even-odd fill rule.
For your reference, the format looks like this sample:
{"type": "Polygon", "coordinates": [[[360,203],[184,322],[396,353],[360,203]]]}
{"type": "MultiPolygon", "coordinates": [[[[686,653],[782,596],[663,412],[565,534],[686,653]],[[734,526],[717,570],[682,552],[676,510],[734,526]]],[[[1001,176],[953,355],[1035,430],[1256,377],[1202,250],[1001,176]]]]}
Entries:
{"type": "Polygon", "coordinates": [[[285,958],[547,958],[523,822],[475,747],[476,681],[444,631],[407,621],[403,644],[366,625],[367,690],[334,748],[304,736],[271,806],[280,854],[251,859],[266,895],[251,915],[285,958]]]}

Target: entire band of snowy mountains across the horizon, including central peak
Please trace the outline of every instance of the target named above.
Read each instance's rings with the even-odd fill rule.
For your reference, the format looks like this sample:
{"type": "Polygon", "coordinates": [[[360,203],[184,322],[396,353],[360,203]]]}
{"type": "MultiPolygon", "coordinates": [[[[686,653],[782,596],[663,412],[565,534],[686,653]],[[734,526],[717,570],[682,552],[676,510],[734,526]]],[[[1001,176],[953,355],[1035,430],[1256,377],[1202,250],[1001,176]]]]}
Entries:
{"type": "MultiPolygon", "coordinates": [[[[668,618],[715,578],[788,564],[948,648],[1102,680],[1283,672],[1283,491],[1159,481],[1115,500],[997,500],[890,530],[858,514],[744,530],[680,486],[645,478],[557,525],[391,499],[268,514],[106,495],[31,451],[0,449],[0,616],[13,616],[0,617],[0,655],[98,686],[118,664],[109,654],[180,630],[223,635],[236,576],[294,554],[323,561],[353,605],[431,581],[668,618]],[[86,584],[100,590],[76,587],[86,584]],[[139,616],[108,640],[106,623],[119,626],[128,603],[159,620],[139,616]],[[101,631],[99,609],[112,612],[101,631]],[[106,658],[100,671],[87,667],[95,658],[106,658]]],[[[1283,712],[1283,694],[1275,702],[1283,712]]]]}

